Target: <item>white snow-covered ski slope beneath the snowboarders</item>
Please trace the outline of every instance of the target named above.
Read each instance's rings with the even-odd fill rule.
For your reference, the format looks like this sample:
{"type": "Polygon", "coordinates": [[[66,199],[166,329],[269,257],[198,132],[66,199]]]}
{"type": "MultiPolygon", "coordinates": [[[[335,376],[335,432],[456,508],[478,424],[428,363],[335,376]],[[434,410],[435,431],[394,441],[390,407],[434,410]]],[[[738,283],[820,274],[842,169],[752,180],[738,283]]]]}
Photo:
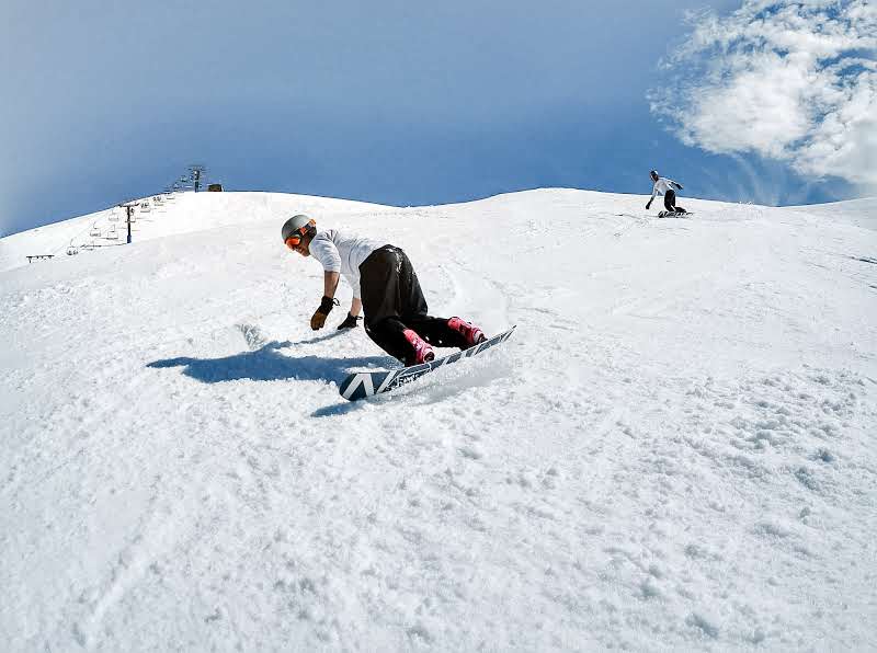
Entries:
{"type": "Polygon", "coordinates": [[[0,240],[3,649],[875,650],[873,219],[645,203],[203,193],[0,240]],[[310,331],[303,210],[514,336],[344,401],[392,360],[343,282],[310,331]]]}

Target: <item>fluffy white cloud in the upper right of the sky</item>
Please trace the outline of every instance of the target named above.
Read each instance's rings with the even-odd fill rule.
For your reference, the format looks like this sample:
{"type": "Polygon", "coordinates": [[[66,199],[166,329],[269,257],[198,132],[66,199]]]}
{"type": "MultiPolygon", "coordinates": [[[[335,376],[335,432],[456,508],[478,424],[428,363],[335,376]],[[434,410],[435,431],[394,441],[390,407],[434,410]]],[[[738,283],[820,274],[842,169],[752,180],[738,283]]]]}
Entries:
{"type": "Polygon", "coordinates": [[[652,112],[686,145],[754,152],[877,193],[877,3],[747,0],[690,15],[652,112]]]}

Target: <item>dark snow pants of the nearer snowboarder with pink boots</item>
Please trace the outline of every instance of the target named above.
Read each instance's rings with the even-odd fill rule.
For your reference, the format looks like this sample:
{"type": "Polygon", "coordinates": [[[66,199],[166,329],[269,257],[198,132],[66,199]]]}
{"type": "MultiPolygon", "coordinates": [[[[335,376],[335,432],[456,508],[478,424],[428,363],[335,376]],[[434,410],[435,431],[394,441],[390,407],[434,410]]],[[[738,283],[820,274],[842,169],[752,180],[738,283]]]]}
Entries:
{"type": "Polygon", "coordinates": [[[394,245],[372,252],[360,265],[360,294],[365,313],[365,332],[385,352],[402,363],[412,347],[402,332],[413,330],[436,347],[465,347],[462,334],[447,325],[446,318],[426,314],[426,299],[418,275],[406,253],[394,245]]]}

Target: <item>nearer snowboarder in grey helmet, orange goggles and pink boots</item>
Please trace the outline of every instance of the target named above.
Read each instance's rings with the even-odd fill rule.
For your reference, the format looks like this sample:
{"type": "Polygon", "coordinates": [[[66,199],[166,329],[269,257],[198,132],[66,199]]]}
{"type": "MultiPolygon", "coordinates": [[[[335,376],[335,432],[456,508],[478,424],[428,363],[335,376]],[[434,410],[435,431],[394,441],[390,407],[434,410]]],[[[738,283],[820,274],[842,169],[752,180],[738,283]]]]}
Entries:
{"type": "Polygon", "coordinates": [[[317,222],[305,215],[286,220],[281,236],[287,248],[322,264],[323,296],[310,318],[315,331],[338,305],[334,296],[343,275],[353,288],[353,301],[339,329],[355,326],[362,309],[368,337],[406,366],[435,359],[433,345],[466,350],[487,340],[465,320],[426,313],[418,277],[401,248],[337,229],[318,231],[317,222]]]}

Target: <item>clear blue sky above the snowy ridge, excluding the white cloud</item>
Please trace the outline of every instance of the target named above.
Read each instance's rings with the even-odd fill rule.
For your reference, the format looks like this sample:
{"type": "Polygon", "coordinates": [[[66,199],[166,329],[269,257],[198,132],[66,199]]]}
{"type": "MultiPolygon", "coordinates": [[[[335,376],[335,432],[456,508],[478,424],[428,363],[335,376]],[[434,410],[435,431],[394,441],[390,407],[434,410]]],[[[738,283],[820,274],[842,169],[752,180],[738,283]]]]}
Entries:
{"type": "Polygon", "coordinates": [[[648,195],[651,168],[690,196],[857,194],[759,144],[706,151],[651,106],[690,68],[660,66],[686,42],[683,12],[739,0],[315,4],[8,0],[0,232],[159,192],[191,162],[229,190],[394,205],[540,186],[648,195]]]}

